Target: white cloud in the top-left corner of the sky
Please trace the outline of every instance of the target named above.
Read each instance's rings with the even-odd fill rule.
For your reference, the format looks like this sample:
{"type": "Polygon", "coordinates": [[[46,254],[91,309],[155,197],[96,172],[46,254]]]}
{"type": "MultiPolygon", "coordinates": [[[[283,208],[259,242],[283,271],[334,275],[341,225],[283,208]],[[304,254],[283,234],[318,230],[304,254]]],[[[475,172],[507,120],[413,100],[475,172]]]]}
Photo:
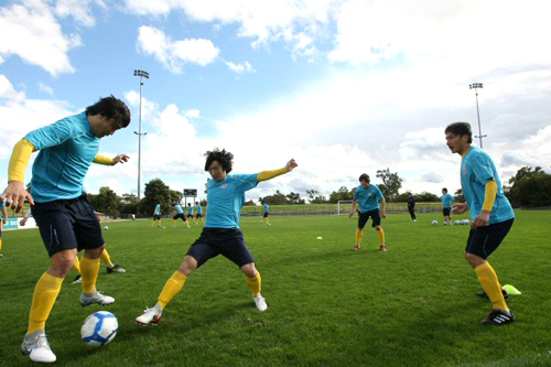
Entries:
{"type": "Polygon", "coordinates": [[[3,58],[18,55],[54,76],[75,71],[67,53],[82,44],[80,37],[63,34],[52,10],[40,0],[0,8],[0,34],[3,58]]]}

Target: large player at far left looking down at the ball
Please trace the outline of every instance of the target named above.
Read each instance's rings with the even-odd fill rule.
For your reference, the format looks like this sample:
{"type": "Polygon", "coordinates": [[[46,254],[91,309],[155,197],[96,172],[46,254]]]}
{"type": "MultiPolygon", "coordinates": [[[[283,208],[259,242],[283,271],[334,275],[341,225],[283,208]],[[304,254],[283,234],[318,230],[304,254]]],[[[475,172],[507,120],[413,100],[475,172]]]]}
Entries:
{"type": "Polygon", "coordinates": [[[21,352],[31,360],[53,363],[45,331],[46,320],[61,291],[78,250],[80,261],[83,306],[106,305],[115,299],[96,290],[99,257],[105,248],[101,227],[88,204],[83,182],[95,162],[115,165],[128,161],[128,155],[114,159],[99,155],[100,138],[111,136],[130,123],[130,111],[114,96],[99,99],[85,111],[66,117],[53,125],[29,132],[13,148],[8,187],[1,195],[15,213],[28,199],[51,259],[50,268],[36,282],[30,311],[29,328],[21,352]],[[33,151],[40,151],[33,164],[31,194],[26,192],[24,172],[33,151]]]}

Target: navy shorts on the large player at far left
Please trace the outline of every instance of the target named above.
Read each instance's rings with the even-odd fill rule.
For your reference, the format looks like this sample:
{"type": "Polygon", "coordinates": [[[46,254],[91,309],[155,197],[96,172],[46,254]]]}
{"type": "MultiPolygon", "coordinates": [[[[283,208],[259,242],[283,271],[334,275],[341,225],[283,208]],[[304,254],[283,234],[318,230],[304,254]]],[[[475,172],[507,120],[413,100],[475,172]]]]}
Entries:
{"type": "Polygon", "coordinates": [[[73,199],[36,203],[31,208],[50,257],[67,249],[80,251],[105,244],[98,218],[86,194],[73,199]]]}

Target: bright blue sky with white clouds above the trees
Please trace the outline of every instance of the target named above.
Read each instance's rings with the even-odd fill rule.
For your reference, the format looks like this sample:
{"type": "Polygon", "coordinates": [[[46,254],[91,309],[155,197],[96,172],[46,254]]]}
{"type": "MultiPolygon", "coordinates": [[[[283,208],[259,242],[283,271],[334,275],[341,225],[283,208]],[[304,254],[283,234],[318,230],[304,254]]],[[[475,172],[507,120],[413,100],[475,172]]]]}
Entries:
{"type": "MultiPolygon", "coordinates": [[[[130,126],[101,140],[123,165],[93,164],[85,188],[197,188],[204,153],[234,173],[281,168],[256,198],[357,186],[377,170],[401,192],[461,188],[444,129],[467,121],[501,181],[551,164],[551,4],[545,0],[0,0],[0,182],[29,131],[114,95],[130,126]]],[[[475,139],[474,144],[479,145],[475,139]]],[[[32,161],[35,154],[33,154],[32,161]]],[[[31,161],[31,163],[32,163],[31,161]]],[[[25,180],[32,176],[31,165],[25,180]]]]}

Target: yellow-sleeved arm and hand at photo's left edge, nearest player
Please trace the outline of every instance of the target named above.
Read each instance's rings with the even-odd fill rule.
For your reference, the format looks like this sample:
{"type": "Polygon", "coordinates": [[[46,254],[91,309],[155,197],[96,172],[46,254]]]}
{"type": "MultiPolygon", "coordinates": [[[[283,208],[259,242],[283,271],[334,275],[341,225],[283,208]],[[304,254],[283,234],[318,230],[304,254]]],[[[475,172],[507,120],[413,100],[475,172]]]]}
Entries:
{"type": "Polygon", "coordinates": [[[12,209],[19,213],[23,208],[25,199],[34,205],[34,201],[25,190],[23,184],[25,180],[25,170],[34,151],[34,145],[26,139],[21,139],[11,153],[10,165],[8,169],[8,187],[0,197],[1,201],[6,198],[12,209]]]}

